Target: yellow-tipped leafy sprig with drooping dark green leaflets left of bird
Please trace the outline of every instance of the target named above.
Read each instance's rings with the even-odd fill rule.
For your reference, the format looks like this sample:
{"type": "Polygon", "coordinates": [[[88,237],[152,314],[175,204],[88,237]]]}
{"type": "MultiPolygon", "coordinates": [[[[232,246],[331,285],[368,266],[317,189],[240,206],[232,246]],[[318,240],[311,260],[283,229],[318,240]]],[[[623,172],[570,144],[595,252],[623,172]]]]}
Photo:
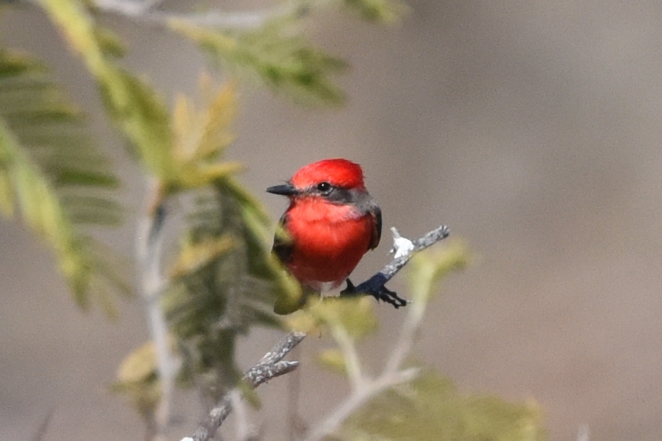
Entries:
{"type": "Polygon", "coordinates": [[[201,95],[212,97],[203,111],[183,97],[176,105],[179,168],[164,185],[169,193],[198,190],[163,306],[181,344],[183,380],[217,398],[237,379],[237,336],[254,325],[279,325],[272,308],[288,288],[270,255],[269,217],[230,176],[236,167],[218,162],[233,138],[234,88],[210,90],[203,77],[201,95]]]}

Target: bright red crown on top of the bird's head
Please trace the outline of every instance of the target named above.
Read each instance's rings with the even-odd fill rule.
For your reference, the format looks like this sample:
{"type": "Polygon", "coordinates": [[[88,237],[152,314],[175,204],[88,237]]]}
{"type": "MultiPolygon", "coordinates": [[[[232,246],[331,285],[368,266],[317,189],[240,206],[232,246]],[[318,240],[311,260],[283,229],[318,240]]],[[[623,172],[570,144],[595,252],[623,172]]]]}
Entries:
{"type": "Polygon", "coordinates": [[[290,183],[297,188],[306,188],[320,182],[328,182],[343,188],[365,190],[363,170],[359,164],[347,159],[323,159],[308,164],[297,171],[290,183]]]}

